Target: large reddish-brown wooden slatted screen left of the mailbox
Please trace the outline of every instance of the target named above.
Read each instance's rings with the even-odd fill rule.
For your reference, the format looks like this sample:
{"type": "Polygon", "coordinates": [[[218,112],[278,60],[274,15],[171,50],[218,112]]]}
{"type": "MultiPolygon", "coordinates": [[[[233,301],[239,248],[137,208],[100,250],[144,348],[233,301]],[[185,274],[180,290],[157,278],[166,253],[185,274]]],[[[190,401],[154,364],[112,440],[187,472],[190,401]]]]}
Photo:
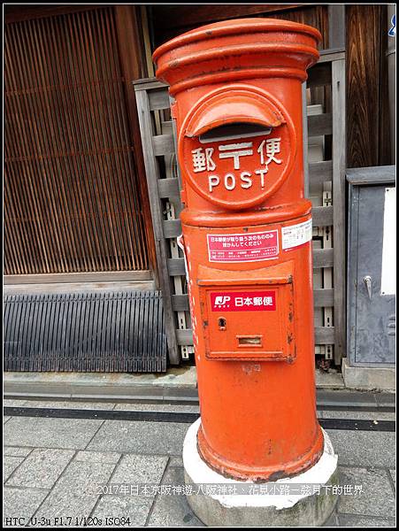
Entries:
{"type": "Polygon", "coordinates": [[[4,27],[5,274],[150,268],[115,13],[4,27]]]}

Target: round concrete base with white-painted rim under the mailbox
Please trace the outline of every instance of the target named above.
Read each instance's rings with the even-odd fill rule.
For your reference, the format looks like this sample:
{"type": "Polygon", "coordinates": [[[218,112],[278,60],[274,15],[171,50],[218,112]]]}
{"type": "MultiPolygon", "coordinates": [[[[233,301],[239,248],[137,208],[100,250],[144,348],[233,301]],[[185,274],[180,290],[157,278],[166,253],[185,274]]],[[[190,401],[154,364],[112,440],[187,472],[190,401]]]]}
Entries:
{"type": "Polygon", "coordinates": [[[186,485],[201,493],[188,497],[196,516],[210,527],[320,526],[331,515],[338,496],[337,456],[325,437],[318,463],[295,477],[268,483],[236,481],[212,470],[200,458],[196,435],[201,419],[188,428],[183,447],[186,485]],[[267,490],[267,494],[265,494],[267,490]],[[233,492],[233,493],[232,493],[233,492]]]}

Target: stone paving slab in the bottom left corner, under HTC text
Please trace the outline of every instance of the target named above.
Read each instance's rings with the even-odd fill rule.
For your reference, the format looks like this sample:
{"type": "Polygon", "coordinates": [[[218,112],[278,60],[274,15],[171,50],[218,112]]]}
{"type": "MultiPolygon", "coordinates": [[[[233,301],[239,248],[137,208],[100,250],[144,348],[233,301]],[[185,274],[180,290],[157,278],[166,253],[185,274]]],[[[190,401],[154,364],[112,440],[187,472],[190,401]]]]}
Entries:
{"type": "Polygon", "coordinates": [[[49,494],[48,490],[42,489],[19,489],[4,487],[3,489],[3,521],[7,518],[31,518],[44,498],[49,494]]]}

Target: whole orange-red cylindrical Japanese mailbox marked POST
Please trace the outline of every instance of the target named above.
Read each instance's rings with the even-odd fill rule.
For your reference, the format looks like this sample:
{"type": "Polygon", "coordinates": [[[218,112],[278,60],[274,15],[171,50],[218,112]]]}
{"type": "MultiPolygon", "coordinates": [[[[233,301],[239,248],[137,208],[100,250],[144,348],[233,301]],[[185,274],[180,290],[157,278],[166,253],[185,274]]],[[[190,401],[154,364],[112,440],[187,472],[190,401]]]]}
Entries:
{"type": "Polygon", "coordinates": [[[323,450],[302,141],[319,40],[312,27],[243,19],[154,53],[175,98],[198,450],[237,479],[295,475],[323,450]]]}

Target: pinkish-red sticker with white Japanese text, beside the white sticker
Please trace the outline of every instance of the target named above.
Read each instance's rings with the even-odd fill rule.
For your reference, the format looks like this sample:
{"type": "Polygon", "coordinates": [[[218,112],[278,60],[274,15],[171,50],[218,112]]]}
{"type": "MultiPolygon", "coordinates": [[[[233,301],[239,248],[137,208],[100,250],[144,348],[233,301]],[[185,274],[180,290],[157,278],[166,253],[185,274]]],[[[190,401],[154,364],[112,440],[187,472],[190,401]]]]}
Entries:
{"type": "Polygon", "coordinates": [[[257,262],[279,256],[277,230],[248,235],[207,235],[210,262],[257,262]]]}

